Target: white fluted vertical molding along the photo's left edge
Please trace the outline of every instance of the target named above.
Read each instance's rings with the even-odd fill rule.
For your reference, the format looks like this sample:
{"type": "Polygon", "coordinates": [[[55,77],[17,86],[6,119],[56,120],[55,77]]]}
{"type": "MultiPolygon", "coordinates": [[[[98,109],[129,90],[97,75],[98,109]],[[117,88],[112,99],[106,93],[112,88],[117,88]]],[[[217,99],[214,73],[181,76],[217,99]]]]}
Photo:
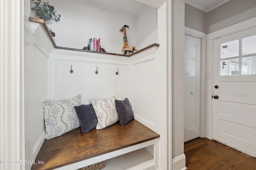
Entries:
{"type": "MultiPolygon", "coordinates": [[[[0,1],[0,160],[24,160],[22,5],[23,0],[0,1]]],[[[24,167],[0,164],[0,169],[24,167]]]]}

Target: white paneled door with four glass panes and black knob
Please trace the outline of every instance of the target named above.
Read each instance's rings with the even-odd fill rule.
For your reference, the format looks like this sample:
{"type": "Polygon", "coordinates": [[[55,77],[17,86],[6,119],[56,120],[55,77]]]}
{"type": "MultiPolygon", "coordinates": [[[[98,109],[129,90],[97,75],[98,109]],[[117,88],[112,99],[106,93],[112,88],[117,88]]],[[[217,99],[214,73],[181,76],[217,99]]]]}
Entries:
{"type": "Polygon", "coordinates": [[[214,39],[213,139],[256,156],[256,27],[214,39]]]}

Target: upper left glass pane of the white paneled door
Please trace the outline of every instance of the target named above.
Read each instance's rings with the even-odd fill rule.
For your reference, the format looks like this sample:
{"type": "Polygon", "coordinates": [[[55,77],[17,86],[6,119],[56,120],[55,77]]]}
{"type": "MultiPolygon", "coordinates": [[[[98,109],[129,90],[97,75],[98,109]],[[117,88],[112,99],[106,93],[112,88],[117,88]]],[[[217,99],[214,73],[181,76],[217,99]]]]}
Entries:
{"type": "Polygon", "coordinates": [[[220,58],[226,59],[239,55],[239,39],[222,43],[220,45],[220,58]]]}

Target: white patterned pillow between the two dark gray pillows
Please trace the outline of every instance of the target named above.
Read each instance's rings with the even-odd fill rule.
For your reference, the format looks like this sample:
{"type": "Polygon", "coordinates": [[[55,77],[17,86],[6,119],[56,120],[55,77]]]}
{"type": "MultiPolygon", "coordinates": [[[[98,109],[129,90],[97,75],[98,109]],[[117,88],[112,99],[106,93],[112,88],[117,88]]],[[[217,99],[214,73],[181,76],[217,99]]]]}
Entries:
{"type": "Polygon", "coordinates": [[[98,119],[96,129],[104,129],[118,121],[115,100],[114,96],[111,99],[92,100],[92,106],[98,119]]]}

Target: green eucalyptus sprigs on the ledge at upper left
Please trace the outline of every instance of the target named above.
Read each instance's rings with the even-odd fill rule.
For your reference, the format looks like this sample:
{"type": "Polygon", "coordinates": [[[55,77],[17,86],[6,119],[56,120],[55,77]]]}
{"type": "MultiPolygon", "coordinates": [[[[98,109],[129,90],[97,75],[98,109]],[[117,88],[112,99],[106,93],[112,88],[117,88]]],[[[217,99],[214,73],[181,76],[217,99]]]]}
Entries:
{"type": "Polygon", "coordinates": [[[45,3],[41,2],[41,0],[30,1],[35,4],[35,7],[31,8],[31,10],[36,12],[38,18],[43,19],[44,21],[60,21],[60,14],[56,14],[57,11],[54,11],[54,6],[49,5],[49,2],[45,3]]]}

